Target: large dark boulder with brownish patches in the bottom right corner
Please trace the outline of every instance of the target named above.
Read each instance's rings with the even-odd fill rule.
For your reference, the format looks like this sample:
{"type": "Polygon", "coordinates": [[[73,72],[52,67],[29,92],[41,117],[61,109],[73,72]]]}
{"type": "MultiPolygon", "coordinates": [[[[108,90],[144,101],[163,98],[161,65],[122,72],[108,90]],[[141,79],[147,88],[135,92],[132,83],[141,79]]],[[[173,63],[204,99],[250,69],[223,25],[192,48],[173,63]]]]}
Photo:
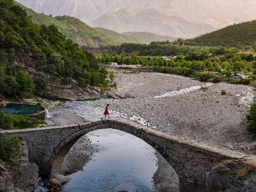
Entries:
{"type": "Polygon", "coordinates": [[[241,160],[229,160],[206,172],[208,192],[255,191],[256,166],[241,160]]]}

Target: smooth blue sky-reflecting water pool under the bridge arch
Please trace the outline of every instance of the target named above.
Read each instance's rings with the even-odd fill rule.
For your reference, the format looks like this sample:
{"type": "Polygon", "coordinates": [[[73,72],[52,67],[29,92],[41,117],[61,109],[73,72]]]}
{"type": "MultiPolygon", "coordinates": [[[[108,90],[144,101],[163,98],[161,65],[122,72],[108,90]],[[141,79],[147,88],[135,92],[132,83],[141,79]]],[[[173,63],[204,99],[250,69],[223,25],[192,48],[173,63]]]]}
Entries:
{"type": "Polygon", "coordinates": [[[114,129],[87,134],[96,152],[83,171],[62,191],[154,191],[152,176],[157,170],[155,150],[141,139],[114,129]]]}

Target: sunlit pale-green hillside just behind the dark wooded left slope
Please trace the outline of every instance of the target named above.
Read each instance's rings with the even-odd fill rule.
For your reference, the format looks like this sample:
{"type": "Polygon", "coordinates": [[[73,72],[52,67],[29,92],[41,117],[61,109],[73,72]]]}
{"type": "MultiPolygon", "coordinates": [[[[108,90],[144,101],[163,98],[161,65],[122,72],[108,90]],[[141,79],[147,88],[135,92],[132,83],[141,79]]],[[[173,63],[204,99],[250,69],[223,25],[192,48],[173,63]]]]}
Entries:
{"type": "Polygon", "coordinates": [[[32,21],[38,24],[45,24],[50,26],[55,24],[58,30],[63,33],[67,38],[79,45],[85,46],[109,46],[121,45],[121,42],[116,41],[114,38],[104,35],[103,33],[95,30],[87,24],[81,22],[79,19],[69,16],[56,16],[50,17],[46,14],[39,14],[22,6],[22,4],[15,2],[27,11],[28,16],[32,16],[32,21]]]}

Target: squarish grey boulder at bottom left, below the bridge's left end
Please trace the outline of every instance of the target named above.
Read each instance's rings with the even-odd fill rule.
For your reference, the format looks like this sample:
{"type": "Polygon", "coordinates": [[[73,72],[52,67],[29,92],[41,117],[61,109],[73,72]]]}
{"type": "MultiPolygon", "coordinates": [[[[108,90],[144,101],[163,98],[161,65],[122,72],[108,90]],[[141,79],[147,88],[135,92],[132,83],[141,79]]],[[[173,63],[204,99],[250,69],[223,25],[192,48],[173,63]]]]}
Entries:
{"type": "Polygon", "coordinates": [[[8,169],[12,175],[15,187],[26,192],[33,192],[36,189],[38,178],[38,166],[36,164],[22,164],[8,169]]]}

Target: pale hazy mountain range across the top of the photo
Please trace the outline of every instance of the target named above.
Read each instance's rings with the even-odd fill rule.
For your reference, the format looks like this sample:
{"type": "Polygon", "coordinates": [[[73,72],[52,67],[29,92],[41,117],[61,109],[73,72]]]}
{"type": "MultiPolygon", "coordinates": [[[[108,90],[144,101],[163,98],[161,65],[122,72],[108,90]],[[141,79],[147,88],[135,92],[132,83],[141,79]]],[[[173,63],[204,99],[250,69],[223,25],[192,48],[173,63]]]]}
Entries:
{"type": "Polygon", "coordinates": [[[192,38],[256,18],[249,0],[18,0],[36,12],[79,18],[91,27],[116,32],[149,31],[192,38]]]}

